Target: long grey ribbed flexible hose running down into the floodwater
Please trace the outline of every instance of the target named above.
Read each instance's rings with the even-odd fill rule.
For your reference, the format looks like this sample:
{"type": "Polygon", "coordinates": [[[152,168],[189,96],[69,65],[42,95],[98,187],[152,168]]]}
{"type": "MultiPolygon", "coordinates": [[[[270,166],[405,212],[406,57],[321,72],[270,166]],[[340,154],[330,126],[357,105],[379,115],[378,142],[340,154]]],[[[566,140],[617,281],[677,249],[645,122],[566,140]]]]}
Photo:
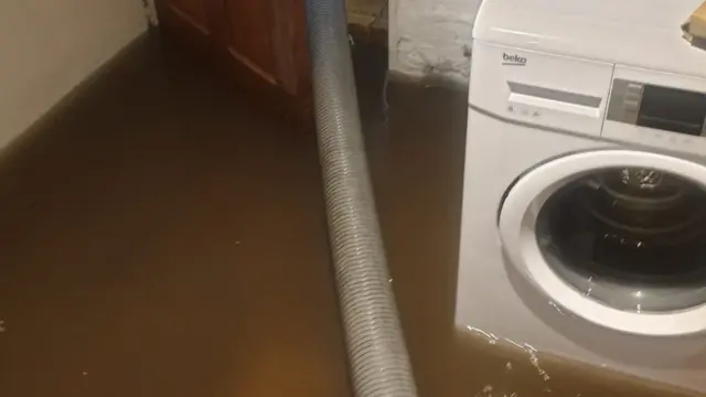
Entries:
{"type": "Polygon", "coordinates": [[[344,0],[307,0],[329,238],[357,397],[417,395],[361,135],[344,0]]]}

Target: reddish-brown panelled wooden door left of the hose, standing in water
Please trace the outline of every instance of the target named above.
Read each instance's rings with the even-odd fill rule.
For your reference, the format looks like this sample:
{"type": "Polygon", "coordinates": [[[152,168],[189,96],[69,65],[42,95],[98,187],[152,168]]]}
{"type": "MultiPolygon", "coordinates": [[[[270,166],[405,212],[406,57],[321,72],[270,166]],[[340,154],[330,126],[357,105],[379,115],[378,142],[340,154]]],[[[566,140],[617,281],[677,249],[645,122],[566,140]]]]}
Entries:
{"type": "Polygon", "coordinates": [[[160,29],[254,100],[311,129],[304,0],[157,0],[160,29]]]}

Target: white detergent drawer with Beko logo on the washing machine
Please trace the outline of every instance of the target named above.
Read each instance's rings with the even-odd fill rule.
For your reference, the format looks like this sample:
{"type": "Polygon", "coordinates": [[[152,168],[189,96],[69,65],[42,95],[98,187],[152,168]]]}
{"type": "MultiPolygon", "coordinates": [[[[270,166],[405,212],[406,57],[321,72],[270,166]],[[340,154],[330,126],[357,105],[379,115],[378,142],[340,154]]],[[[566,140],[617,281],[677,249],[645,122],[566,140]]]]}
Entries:
{"type": "Polygon", "coordinates": [[[469,99],[503,118],[598,137],[612,73],[610,63],[477,40],[469,99]]]}

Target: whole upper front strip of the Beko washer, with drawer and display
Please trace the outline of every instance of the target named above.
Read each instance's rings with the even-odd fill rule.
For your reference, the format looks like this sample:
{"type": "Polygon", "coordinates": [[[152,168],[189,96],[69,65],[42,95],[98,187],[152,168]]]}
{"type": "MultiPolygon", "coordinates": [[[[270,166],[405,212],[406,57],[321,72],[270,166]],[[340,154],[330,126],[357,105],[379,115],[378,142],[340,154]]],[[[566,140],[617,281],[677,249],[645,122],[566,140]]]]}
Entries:
{"type": "Polygon", "coordinates": [[[706,155],[706,78],[473,42],[469,103],[512,122],[706,155]]]}

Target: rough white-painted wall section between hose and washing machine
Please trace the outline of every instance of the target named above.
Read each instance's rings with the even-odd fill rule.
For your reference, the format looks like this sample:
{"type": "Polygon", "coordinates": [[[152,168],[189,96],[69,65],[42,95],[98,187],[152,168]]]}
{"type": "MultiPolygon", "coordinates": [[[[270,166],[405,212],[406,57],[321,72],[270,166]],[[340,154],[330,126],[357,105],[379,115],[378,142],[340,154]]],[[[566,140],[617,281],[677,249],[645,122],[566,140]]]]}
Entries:
{"type": "Polygon", "coordinates": [[[481,1],[391,0],[391,71],[467,87],[471,31],[481,1]]]}

